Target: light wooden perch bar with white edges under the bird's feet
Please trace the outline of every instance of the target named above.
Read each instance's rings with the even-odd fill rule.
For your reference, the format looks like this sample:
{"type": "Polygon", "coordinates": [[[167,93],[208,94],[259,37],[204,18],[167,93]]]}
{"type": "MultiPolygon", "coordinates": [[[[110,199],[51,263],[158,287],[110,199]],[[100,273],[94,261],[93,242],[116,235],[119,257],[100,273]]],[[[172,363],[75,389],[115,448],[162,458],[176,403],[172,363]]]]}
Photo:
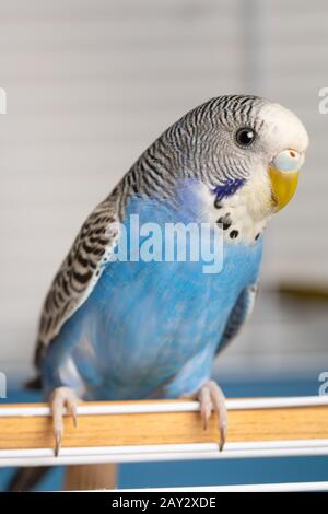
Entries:
{"type": "MultiPolygon", "coordinates": [[[[227,443],[222,456],[232,449],[289,446],[323,448],[324,454],[328,453],[328,397],[229,400],[227,408],[227,443]]],[[[11,458],[23,458],[23,465],[27,465],[33,451],[39,465],[49,458],[51,464],[110,462],[113,456],[122,454],[124,459],[115,459],[126,462],[128,453],[132,460],[138,455],[147,459],[142,448],[152,448],[149,455],[159,454],[161,447],[171,453],[200,449],[219,454],[218,420],[213,416],[208,430],[202,430],[199,405],[195,401],[84,402],[78,413],[77,429],[70,418],[65,419],[62,449],[56,459],[47,406],[1,406],[0,466],[3,462],[8,465],[11,458]],[[91,454],[97,458],[90,460],[91,454]]]]}

